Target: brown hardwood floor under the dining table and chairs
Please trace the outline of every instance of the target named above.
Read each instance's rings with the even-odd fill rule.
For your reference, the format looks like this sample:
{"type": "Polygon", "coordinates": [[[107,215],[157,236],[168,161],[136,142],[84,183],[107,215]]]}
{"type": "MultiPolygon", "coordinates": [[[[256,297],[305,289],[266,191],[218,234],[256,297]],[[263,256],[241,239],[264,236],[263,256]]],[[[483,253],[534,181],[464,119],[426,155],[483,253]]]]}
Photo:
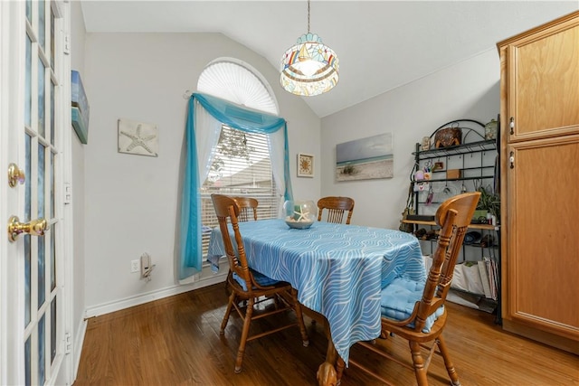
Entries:
{"type": "MultiPolygon", "coordinates": [[[[74,385],[316,385],[326,355],[322,325],[306,316],[308,347],[302,346],[297,327],[248,343],[242,372],[235,374],[242,323],[233,313],[220,336],[226,304],[227,294],[218,284],[90,318],[74,385]]],[[[493,315],[447,305],[445,336],[463,385],[579,385],[578,356],[504,332],[493,324],[493,315]]],[[[268,321],[261,319],[252,328],[261,323],[268,321]]],[[[404,361],[410,359],[400,339],[379,341],[404,361]]],[[[355,347],[352,355],[369,356],[358,352],[355,347]]],[[[413,372],[394,362],[375,365],[396,385],[415,384],[413,372]]],[[[435,355],[430,384],[448,385],[445,375],[435,355]]],[[[346,369],[342,379],[343,386],[378,384],[355,368],[346,369]]]]}

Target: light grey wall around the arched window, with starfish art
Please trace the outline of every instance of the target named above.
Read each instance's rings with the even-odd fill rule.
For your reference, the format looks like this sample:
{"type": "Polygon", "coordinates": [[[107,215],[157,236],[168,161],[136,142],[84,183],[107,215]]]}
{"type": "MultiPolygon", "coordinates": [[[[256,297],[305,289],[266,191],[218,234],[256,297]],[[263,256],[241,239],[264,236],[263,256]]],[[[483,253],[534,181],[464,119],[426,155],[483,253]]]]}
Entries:
{"type": "MultiPolygon", "coordinates": [[[[280,115],[289,122],[293,176],[298,152],[319,159],[320,120],[280,88],[269,62],[219,33],[89,33],[85,50],[85,290],[88,315],[97,315],[190,288],[177,286],[175,275],[183,94],[195,90],[209,61],[241,59],[270,82],[280,115]],[[119,118],[157,125],[158,157],[118,153],[119,118]],[[148,283],[130,273],[130,260],[144,252],[157,266],[148,283]]],[[[293,180],[296,196],[319,196],[319,178],[293,180]]]]}

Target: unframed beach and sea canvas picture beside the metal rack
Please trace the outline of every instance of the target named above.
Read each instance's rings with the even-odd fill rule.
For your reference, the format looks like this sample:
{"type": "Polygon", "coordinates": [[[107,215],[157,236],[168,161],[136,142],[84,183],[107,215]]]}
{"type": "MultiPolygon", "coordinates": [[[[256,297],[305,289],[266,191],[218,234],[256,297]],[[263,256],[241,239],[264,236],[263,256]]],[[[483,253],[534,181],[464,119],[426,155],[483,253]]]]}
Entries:
{"type": "Polygon", "coordinates": [[[337,144],[337,181],[392,177],[394,177],[392,133],[337,144]]]}

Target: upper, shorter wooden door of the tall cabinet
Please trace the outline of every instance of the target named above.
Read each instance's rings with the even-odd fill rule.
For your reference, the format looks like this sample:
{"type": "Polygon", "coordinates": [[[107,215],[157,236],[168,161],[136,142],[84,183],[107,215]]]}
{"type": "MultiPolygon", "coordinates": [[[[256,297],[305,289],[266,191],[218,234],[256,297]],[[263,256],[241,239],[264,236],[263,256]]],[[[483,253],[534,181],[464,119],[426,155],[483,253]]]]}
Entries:
{"type": "Polygon", "coordinates": [[[579,133],[579,19],[573,24],[510,44],[511,141],[579,133]]]}

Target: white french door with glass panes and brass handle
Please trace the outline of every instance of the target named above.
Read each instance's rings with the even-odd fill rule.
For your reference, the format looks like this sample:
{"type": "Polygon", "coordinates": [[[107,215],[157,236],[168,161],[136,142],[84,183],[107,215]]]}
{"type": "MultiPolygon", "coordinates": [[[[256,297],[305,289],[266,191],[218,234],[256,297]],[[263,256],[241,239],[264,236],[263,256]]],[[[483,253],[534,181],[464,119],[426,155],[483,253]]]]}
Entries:
{"type": "Polygon", "coordinates": [[[50,0],[0,2],[0,384],[55,381],[66,350],[62,11],[50,0]]]}

